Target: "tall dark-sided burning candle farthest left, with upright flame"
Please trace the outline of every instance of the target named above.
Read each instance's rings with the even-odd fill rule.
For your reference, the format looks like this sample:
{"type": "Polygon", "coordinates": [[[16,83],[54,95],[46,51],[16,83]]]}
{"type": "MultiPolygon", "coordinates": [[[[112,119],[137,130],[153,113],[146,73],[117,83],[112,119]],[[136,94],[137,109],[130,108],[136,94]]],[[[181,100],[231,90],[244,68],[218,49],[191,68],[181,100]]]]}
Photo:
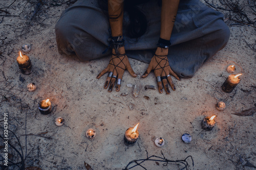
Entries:
{"type": "Polygon", "coordinates": [[[22,52],[19,52],[19,56],[17,57],[18,67],[22,74],[30,75],[32,72],[32,63],[29,59],[29,56],[22,55],[22,52]]]}

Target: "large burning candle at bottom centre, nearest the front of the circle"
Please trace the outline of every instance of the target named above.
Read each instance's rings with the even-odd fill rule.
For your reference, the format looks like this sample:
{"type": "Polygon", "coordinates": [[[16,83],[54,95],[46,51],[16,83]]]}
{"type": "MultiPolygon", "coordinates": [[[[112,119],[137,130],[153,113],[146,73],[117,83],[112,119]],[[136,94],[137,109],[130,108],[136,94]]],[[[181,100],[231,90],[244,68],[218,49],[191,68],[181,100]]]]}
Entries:
{"type": "Polygon", "coordinates": [[[139,132],[137,130],[138,125],[139,125],[139,123],[134,128],[128,128],[125,131],[123,139],[124,139],[124,144],[126,146],[132,146],[137,141],[137,139],[139,137],[139,132]]]}

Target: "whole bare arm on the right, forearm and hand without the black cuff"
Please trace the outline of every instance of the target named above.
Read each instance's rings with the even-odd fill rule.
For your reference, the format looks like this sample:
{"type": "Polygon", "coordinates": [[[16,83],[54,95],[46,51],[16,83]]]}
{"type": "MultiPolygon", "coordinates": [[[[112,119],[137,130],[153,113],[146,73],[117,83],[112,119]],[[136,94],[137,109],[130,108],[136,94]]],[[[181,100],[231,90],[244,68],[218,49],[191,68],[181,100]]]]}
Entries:
{"type": "MultiPolygon", "coordinates": [[[[170,35],[173,31],[179,2],[179,0],[162,0],[160,38],[168,42],[170,40],[170,35]]],[[[147,75],[150,74],[152,70],[154,70],[155,76],[157,77],[158,81],[157,85],[159,92],[163,92],[163,86],[166,93],[169,94],[170,90],[168,88],[168,82],[173,90],[176,89],[173,84],[172,78],[169,75],[174,76],[178,80],[180,80],[180,78],[170,68],[167,55],[168,48],[157,47],[156,53],[142,77],[147,77],[147,75]]]]}

